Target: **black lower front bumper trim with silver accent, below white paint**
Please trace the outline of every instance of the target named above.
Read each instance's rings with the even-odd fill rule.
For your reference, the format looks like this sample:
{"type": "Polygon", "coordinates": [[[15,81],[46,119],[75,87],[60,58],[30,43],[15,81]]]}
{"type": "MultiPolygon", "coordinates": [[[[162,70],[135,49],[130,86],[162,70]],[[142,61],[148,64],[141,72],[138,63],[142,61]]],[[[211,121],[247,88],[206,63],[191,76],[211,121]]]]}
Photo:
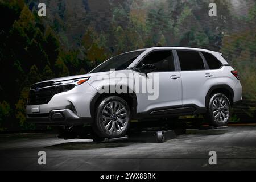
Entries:
{"type": "Polygon", "coordinates": [[[38,125],[83,125],[92,123],[93,118],[81,118],[70,109],[52,110],[47,114],[27,114],[27,122],[38,125]]]}

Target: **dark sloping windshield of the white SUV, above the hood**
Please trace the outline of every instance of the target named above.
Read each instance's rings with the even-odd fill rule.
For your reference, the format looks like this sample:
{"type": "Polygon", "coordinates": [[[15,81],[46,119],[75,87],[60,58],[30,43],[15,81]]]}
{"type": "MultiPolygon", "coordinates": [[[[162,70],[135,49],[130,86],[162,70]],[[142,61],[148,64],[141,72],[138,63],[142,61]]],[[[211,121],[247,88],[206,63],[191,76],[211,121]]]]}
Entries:
{"type": "Polygon", "coordinates": [[[107,71],[110,71],[110,69],[115,69],[115,70],[126,69],[127,67],[129,67],[131,63],[133,63],[133,61],[139,55],[141,55],[143,51],[127,52],[127,53],[122,53],[121,55],[111,57],[109,60],[98,65],[89,73],[107,72],[107,71]]]}

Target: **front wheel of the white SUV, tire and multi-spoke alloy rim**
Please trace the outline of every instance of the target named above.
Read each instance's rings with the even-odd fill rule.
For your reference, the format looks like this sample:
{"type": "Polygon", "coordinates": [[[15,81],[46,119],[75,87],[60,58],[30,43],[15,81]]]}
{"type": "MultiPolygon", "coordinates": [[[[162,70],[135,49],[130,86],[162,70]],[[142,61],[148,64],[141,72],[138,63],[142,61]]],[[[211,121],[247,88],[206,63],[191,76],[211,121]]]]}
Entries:
{"type": "Polygon", "coordinates": [[[118,96],[109,96],[99,102],[93,130],[99,137],[117,138],[126,134],[130,125],[130,107],[118,96]]]}

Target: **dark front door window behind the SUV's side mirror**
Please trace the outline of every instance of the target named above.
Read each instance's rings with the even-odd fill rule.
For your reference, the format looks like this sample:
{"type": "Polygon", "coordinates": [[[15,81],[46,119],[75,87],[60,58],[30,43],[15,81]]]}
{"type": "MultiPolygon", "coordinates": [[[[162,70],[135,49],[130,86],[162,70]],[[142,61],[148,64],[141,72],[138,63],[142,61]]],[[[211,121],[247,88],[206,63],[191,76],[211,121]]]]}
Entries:
{"type": "Polygon", "coordinates": [[[174,56],[171,50],[160,50],[149,53],[142,60],[143,64],[154,64],[155,72],[174,71],[174,56]]]}

